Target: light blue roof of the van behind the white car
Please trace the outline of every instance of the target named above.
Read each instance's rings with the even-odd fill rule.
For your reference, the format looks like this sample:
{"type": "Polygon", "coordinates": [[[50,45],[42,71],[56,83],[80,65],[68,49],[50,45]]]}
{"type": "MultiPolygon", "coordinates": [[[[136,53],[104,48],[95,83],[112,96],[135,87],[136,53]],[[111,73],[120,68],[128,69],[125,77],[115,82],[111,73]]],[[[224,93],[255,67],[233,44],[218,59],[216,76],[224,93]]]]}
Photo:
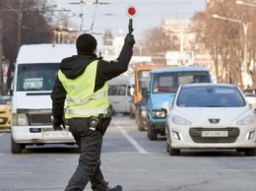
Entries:
{"type": "Polygon", "coordinates": [[[166,67],[166,68],[156,68],[151,70],[151,73],[161,73],[161,72],[186,72],[186,71],[208,71],[205,67],[201,66],[180,66],[180,67],[166,67]]]}

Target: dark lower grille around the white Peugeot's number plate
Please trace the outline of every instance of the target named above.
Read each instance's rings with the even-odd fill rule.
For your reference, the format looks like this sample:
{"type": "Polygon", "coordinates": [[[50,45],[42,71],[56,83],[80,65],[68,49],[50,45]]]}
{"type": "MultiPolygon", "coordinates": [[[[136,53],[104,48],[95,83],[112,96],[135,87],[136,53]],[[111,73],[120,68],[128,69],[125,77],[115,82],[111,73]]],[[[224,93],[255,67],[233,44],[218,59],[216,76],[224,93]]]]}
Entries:
{"type": "Polygon", "coordinates": [[[195,143],[234,143],[239,136],[237,127],[227,128],[202,128],[195,127],[189,129],[189,135],[195,143]],[[202,137],[202,131],[227,131],[227,137],[202,137]]]}

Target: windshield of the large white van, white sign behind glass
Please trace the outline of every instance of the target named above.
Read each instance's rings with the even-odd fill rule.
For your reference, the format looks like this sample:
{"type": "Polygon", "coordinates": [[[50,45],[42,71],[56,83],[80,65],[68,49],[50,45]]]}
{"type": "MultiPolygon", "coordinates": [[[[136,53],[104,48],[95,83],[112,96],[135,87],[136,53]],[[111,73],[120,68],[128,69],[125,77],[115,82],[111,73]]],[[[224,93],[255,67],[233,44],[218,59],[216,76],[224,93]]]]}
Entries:
{"type": "Polygon", "coordinates": [[[20,64],[17,91],[51,91],[59,64],[20,64]]]}

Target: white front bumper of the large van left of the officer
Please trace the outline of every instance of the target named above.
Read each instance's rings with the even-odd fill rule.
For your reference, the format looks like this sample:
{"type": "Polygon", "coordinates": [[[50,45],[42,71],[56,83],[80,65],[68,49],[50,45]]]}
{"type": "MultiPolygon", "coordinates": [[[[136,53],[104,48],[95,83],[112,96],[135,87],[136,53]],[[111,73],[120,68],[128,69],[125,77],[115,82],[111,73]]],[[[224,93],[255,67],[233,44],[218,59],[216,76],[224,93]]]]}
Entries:
{"type": "Polygon", "coordinates": [[[19,144],[75,143],[68,129],[54,131],[50,126],[12,126],[11,134],[19,144]]]}

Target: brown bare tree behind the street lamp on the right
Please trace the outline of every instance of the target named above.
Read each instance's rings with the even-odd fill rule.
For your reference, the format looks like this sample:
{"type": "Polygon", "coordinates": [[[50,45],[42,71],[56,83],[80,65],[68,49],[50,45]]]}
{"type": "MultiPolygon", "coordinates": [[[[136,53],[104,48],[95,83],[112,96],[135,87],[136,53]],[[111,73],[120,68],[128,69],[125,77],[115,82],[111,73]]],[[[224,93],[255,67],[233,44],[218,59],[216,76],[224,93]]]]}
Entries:
{"type": "MultiPolygon", "coordinates": [[[[212,55],[219,82],[230,82],[244,88],[242,71],[249,67],[249,60],[255,60],[255,11],[237,5],[235,0],[215,0],[204,12],[193,17],[192,28],[197,42],[204,43],[212,55]],[[214,14],[223,19],[213,18],[214,14]],[[249,56],[246,57],[247,53],[249,56]]],[[[253,77],[254,67],[250,72],[253,77]]],[[[254,84],[255,80],[253,77],[254,84]]]]}

